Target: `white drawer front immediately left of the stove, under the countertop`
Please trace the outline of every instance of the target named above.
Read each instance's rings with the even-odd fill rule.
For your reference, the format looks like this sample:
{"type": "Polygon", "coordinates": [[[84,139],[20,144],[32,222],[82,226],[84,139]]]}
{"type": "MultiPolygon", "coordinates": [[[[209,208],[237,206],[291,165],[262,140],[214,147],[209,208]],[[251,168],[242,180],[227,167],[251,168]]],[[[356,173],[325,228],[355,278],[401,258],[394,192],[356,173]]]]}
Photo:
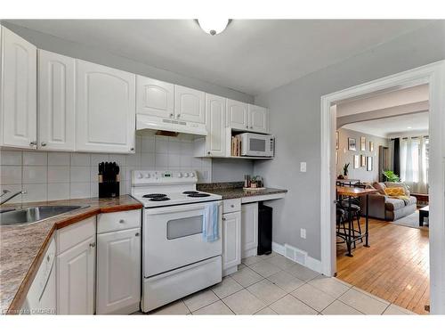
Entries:
{"type": "Polygon", "coordinates": [[[101,214],[97,217],[97,232],[111,232],[141,227],[141,210],[101,214]]]}

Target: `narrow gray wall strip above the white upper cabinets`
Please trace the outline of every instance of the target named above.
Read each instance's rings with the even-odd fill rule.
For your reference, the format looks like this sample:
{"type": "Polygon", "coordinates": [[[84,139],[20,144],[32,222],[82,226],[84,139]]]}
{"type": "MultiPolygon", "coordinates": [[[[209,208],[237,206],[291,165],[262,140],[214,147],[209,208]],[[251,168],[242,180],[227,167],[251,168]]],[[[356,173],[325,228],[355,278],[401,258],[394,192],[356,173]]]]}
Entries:
{"type": "MultiPolygon", "coordinates": [[[[65,54],[85,61],[92,61],[115,69],[122,69],[128,72],[141,74],[146,77],[153,77],[172,84],[188,86],[207,93],[228,97],[242,102],[252,103],[254,101],[252,95],[238,92],[231,88],[217,86],[192,77],[184,77],[166,69],[158,69],[142,62],[132,61],[131,59],[117,56],[113,53],[109,53],[107,50],[70,42],[60,37],[54,37],[36,30],[20,27],[8,21],[3,20],[1,23],[4,27],[11,29],[17,35],[25,38],[40,49],[52,51],[53,53],[65,54]]],[[[150,63],[150,60],[147,62],[150,63]]]]}

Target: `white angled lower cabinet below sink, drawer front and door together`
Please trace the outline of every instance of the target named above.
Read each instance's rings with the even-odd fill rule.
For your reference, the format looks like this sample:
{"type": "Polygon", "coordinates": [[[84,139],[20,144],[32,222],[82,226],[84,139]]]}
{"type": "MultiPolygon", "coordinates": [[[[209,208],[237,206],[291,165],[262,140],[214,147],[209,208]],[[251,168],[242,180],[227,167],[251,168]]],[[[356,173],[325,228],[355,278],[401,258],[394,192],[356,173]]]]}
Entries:
{"type": "Polygon", "coordinates": [[[57,231],[57,314],[94,314],[96,218],[57,231]]]}

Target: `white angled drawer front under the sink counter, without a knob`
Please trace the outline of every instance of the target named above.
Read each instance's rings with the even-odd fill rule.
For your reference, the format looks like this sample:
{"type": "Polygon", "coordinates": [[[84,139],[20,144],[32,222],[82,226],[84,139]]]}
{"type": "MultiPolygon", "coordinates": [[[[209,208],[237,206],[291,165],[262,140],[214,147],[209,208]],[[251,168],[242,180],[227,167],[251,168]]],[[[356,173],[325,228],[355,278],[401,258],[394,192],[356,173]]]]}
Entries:
{"type": "Polygon", "coordinates": [[[76,246],[78,243],[96,236],[96,217],[85,219],[82,222],[71,224],[57,230],[57,255],[76,246]]]}

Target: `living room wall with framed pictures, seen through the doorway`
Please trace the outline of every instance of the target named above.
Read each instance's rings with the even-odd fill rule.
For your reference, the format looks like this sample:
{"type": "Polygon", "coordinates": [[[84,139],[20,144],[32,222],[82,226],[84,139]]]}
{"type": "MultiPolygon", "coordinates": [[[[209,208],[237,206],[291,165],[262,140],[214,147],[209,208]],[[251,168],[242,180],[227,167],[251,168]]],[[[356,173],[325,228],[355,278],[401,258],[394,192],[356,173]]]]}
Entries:
{"type": "MultiPolygon", "coordinates": [[[[388,146],[389,141],[386,138],[377,137],[372,134],[363,134],[361,132],[349,129],[338,129],[339,147],[338,147],[338,164],[336,165],[336,175],[343,175],[344,164],[350,163],[348,177],[351,179],[359,179],[361,182],[378,181],[378,146],[388,146]],[[360,151],[360,137],[366,138],[366,151],[360,151]],[[357,151],[348,150],[348,138],[355,138],[357,151]],[[369,151],[369,142],[374,143],[374,151],[369,151]],[[367,171],[365,167],[354,168],[354,155],[361,155],[373,158],[373,169],[367,171]]],[[[360,160],[359,160],[360,161],[360,160]]],[[[360,165],[359,165],[360,166],[360,165]]]]}

